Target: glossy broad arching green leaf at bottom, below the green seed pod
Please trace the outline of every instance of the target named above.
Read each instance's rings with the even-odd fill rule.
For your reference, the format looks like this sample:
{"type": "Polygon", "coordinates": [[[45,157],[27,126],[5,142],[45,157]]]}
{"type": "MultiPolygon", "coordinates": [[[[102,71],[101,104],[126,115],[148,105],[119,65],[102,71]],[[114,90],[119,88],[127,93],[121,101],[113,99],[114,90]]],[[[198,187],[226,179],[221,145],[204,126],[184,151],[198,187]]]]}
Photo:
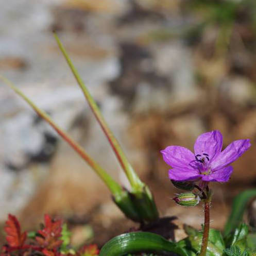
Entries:
{"type": "Polygon", "coordinates": [[[118,235],[101,248],[99,256],[123,256],[136,252],[174,252],[180,256],[191,256],[189,251],[178,244],[148,232],[131,232],[118,235]]]}

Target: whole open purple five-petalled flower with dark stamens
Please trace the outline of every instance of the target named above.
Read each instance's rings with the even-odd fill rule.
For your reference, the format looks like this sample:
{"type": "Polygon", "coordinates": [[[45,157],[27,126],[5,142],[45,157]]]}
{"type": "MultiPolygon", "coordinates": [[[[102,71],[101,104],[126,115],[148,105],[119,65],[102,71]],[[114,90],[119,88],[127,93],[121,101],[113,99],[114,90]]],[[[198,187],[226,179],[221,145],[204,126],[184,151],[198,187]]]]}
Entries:
{"type": "Polygon", "coordinates": [[[180,146],[168,146],[161,150],[164,161],[173,167],[169,178],[176,181],[201,180],[227,182],[233,172],[230,166],[251,146],[249,140],[233,141],[223,151],[222,134],[206,132],[197,138],[194,152],[180,146]]]}

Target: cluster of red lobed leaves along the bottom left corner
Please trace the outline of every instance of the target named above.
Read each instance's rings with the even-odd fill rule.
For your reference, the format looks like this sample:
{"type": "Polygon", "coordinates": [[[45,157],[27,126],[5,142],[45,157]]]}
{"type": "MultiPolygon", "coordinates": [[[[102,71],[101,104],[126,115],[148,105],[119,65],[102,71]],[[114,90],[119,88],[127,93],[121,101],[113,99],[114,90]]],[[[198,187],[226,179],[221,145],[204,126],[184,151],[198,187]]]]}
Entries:
{"type": "Polygon", "coordinates": [[[83,246],[75,254],[61,254],[62,221],[54,220],[49,215],[44,215],[44,228],[37,232],[34,240],[26,241],[27,232],[21,233],[18,219],[9,214],[6,221],[5,232],[7,243],[2,247],[0,256],[30,256],[44,254],[45,256],[95,256],[99,250],[96,245],[83,246]],[[27,243],[26,243],[27,242],[27,243]]]}

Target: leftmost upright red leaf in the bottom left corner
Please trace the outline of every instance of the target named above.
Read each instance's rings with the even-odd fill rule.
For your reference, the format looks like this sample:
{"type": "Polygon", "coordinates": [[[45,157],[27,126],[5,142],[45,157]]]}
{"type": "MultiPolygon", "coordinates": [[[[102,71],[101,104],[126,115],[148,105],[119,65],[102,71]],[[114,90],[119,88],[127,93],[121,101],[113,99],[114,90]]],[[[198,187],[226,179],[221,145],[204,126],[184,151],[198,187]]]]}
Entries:
{"type": "Polygon", "coordinates": [[[9,246],[22,247],[27,238],[27,232],[21,233],[21,226],[18,219],[14,215],[9,214],[5,224],[6,240],[9,246]]]}

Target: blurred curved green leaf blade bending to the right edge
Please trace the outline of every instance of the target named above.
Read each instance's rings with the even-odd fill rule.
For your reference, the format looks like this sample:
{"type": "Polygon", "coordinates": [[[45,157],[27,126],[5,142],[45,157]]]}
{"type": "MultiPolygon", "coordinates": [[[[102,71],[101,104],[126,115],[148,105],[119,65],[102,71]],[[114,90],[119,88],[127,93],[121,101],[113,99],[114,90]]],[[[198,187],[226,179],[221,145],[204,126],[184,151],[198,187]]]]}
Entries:
{"type": "Polygon", "coordinates": [[[234,230],[242,221],[247,202],[256,196],[256,189],[246,190],[238,194],[232,204],[231,213],[225,225],[224,236],[227,236],[234,230]]]}

